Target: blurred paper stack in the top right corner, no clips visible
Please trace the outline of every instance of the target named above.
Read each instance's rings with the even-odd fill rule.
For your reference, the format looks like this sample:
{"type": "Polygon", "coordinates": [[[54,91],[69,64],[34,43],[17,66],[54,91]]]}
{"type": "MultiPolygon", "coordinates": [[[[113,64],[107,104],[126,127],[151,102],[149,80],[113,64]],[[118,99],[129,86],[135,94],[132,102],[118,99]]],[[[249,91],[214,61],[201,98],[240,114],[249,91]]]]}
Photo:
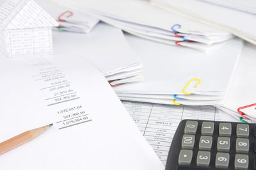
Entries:
{"type": "Polygon", "coordinates": [[[150,0],[152,4],[228,31],[256,45],[255,1],[150,0]],[[209,3],[211,2],[211,3],[209,3]]]}

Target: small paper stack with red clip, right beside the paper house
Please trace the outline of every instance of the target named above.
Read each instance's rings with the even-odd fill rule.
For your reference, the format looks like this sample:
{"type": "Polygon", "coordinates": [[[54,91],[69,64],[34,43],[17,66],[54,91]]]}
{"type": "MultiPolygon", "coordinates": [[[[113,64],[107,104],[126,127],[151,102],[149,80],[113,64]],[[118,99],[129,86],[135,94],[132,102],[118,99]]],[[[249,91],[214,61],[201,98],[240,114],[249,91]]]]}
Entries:
{"type": "Polygon", "coordinates": [[[60,26],[56,29],[60,31],[90,33],[93,27],[99,22],[99,19],[88,13],[77,12],[77,10],[54,3],[51,0],[35,1],[59,22],[60,26]]]}

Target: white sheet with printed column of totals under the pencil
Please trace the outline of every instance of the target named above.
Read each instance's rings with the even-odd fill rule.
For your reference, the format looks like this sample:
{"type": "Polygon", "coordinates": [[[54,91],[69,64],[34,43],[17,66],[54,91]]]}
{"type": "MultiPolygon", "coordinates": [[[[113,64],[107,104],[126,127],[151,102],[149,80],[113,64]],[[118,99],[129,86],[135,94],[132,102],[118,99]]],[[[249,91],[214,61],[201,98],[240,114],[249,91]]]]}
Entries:
{"type": "Polygon", "coordinates": [[[0,141],[54,126],[0,155],[0,169],[163,170],[100,72],[70,57],[1,56],[0,141]]]}

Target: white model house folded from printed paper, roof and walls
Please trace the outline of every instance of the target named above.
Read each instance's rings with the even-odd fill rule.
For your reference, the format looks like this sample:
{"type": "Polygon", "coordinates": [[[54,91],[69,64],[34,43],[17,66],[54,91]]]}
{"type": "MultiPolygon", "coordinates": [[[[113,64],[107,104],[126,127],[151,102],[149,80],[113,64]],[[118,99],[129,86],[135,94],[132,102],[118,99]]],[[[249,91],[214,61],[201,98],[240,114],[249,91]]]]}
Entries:
{"type": "Polygon", "coordinates": [[[53,26],[58,22],[33,0],[0,4],[0,47],[10,58],[51,54],[53,26]]]}

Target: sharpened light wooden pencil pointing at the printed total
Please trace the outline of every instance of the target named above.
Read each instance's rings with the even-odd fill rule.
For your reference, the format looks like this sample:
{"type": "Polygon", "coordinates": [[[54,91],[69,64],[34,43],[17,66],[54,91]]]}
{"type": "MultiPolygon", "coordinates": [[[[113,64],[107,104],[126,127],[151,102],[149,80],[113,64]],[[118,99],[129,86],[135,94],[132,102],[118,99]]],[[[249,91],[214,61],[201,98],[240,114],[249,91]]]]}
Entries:
{"type": "Polygon", "coordinates": [[[12,137],[11,139],[8,139],[7,141],[4,141],[3,143],[0,143],[0,155],[6,151],[16,148],[17,146],[20,146],[20,144],[24,144],[28,141],[31,141],[32,139],[35,139],[38,135],[42,134],[45,130],[47,130],[47,128],[51,127],[52,125],[53,124],[51,123],[50,125],[46,125],[44,127],[28,130],[26,132],[23,132],[22,134],[12,137]]]}

